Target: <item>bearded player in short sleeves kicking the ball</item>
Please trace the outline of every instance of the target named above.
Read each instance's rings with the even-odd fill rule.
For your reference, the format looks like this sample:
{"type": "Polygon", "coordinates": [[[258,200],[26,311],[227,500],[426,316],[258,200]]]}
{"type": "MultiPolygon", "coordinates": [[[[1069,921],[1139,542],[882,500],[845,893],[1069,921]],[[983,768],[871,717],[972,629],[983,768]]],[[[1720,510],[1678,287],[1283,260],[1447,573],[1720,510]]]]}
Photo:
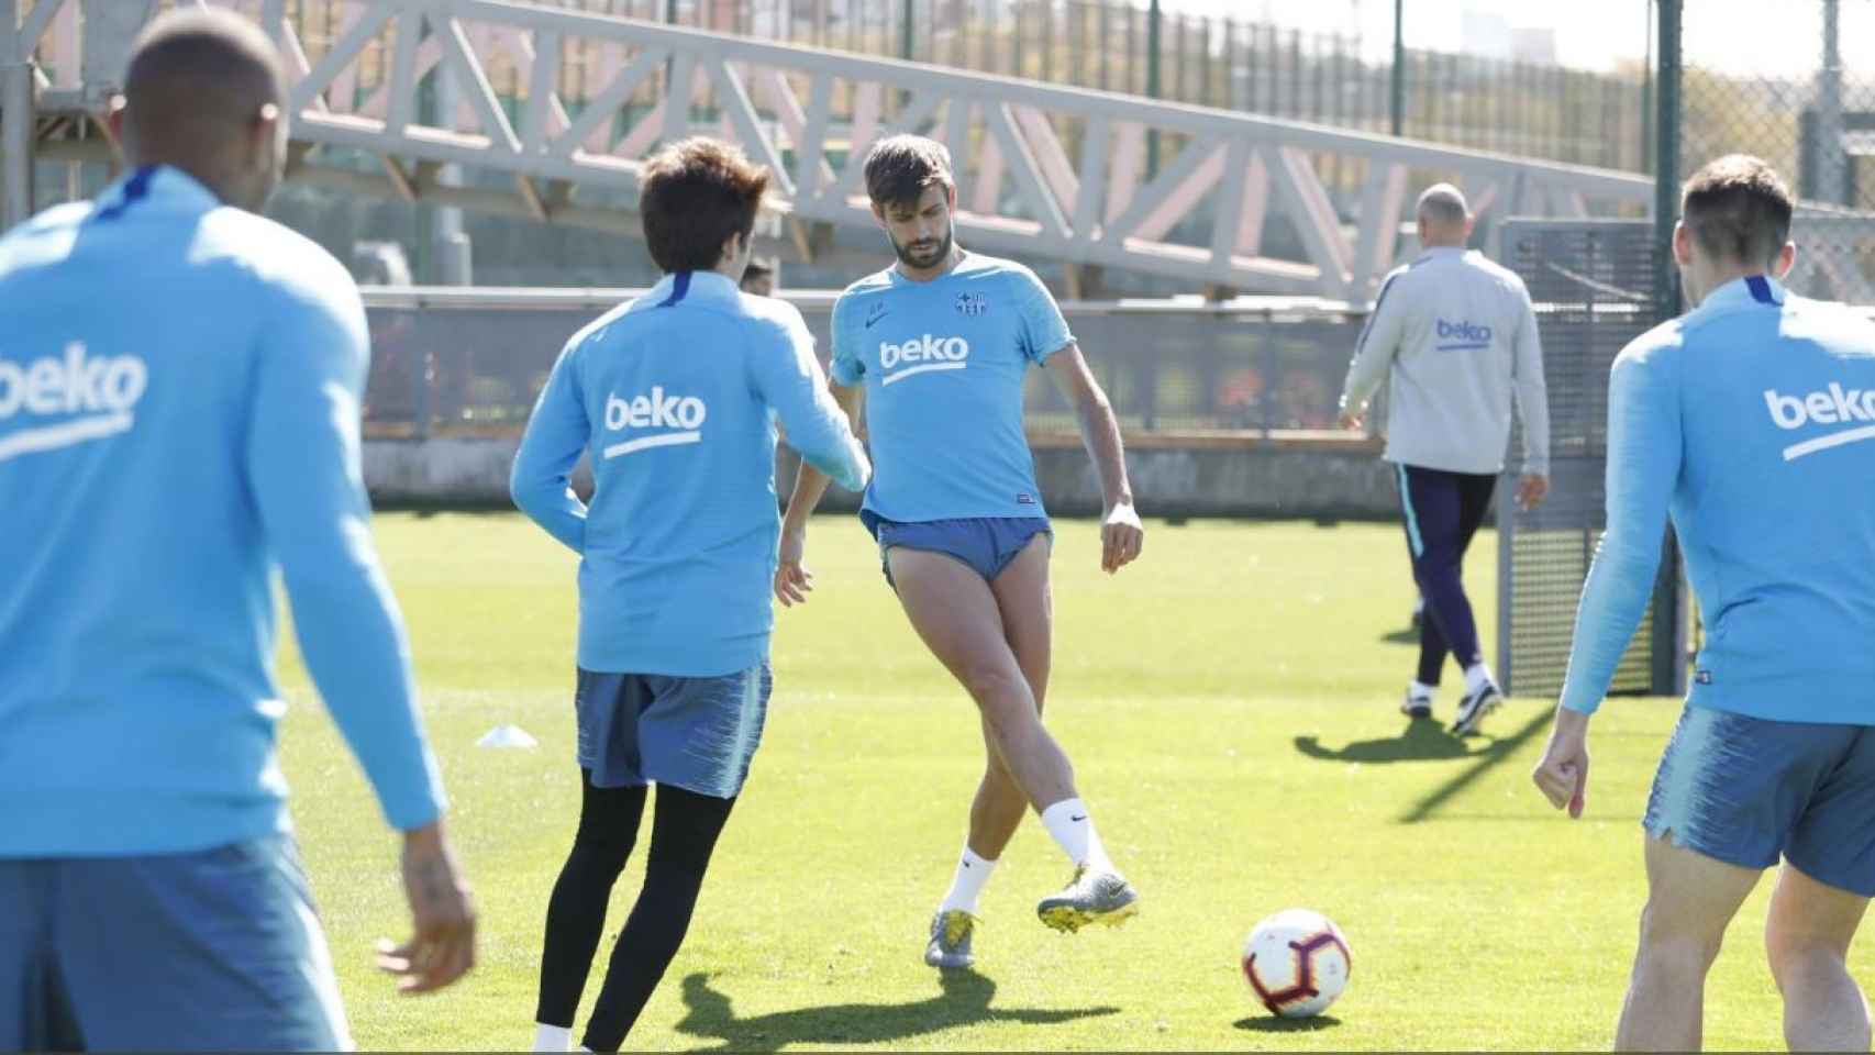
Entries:
{"type": "MultiPolygon", "coordinates": [[[[1078,412],[1104,495],[1101,568],[1132,562],[1144,528],[1119,423],[1048,289],[1022,264],[956,244],[949,152],[924,137],[892,137],[872,148],[864,174],[898,260],[834,304],[832,392],[855,420],[866,405],[876,474],[861,517],[879,543],[885,579],[982,721],[986,759],[969,836],[924,948],[932,967],[969,967],[977,898],[1026,810],[1041,813],[1074,866],[1069,884],[1037,905],[1044,924],[1074,931],[1138,909],[1041,721],[1054,532],[1022,427],[1029,367],[1044,367],[1078,412]]],[[[774,579],[782,603],[806,598],[808,517],[825,487],[814,470],[795,482],[774,579]]]]}

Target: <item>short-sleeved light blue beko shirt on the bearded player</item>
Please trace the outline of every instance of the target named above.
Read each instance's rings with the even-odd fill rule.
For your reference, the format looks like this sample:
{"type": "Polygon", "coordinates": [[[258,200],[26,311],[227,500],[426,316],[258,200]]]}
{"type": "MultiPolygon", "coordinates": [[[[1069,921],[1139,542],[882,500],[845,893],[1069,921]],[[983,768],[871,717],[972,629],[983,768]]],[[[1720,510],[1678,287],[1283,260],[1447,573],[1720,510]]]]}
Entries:
{"type": "Polygon", "coordinates": [[[911,281],[887,268],[832,305],[832,377],[866,386],[878,472],[864,510],[889,521],[1046,517],[1022,429],[1031,365],[1074,343],[1035,272],[968,253],[911,281]]]}

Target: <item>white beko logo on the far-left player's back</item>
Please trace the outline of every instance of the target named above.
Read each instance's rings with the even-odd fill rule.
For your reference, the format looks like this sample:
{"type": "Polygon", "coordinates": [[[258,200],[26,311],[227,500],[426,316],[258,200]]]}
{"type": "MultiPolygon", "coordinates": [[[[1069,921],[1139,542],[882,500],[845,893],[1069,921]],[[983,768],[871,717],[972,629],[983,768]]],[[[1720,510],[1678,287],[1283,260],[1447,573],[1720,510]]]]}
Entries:
{"type": "Polygon", "coordinates": [[[0,360],[0,425],[21,416],[79,414],[0,435],[0,461],[128,433],[148,384],[150,367],[141,358],[86,358],[81,341],[66,345],[64,356],[0,360]]]}

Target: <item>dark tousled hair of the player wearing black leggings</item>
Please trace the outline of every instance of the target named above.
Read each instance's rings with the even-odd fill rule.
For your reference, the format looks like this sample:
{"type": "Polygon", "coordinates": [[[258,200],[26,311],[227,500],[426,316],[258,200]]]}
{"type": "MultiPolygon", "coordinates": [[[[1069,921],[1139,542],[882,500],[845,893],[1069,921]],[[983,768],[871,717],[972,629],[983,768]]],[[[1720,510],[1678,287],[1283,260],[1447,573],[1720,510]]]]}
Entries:
{"type": "Polygon", "coordinates": [[[750,165],[739,146],[698,135],[645,161],[638,212],[651,259],[666,272],[707,272],[731,234],[756,232],[769,167],[750,165]]]}

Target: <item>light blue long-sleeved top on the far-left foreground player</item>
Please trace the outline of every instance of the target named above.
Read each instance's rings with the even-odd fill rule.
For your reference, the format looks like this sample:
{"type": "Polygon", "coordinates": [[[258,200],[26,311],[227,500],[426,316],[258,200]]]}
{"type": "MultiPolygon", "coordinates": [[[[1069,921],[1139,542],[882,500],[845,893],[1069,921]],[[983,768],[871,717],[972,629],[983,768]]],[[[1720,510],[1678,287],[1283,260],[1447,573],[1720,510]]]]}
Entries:
{"type": "Polygon", "coordinates": [[[178,169],[0,240],[0,856],[289,828],[272,573],[390,823],[442,810],[358,463],[358,287],[178,169]]]}

